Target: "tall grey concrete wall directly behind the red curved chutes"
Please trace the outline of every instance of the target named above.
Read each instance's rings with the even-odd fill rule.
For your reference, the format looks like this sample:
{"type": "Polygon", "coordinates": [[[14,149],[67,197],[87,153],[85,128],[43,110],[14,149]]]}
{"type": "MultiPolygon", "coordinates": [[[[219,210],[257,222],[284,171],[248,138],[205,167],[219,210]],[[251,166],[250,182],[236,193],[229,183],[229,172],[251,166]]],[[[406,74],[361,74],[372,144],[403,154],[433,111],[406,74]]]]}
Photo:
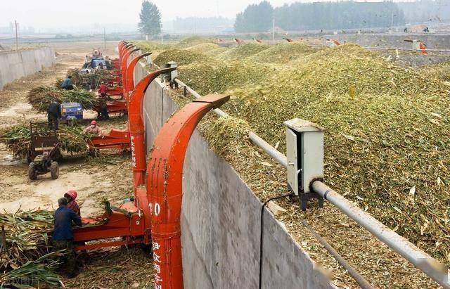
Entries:
{"type": "MultiPolygon", "coordinates": [[[[145,74],[137,65],[136,83],[145,74]]],[[[147,149],[176,110],[159,80],[144,101],[147,149]]],[[[181,244],[185,288],[258,288],[262,204],[195,131],[184,164],[181,244]]],[[[262,288],[334,288],[267,211],[262,288]]]]}

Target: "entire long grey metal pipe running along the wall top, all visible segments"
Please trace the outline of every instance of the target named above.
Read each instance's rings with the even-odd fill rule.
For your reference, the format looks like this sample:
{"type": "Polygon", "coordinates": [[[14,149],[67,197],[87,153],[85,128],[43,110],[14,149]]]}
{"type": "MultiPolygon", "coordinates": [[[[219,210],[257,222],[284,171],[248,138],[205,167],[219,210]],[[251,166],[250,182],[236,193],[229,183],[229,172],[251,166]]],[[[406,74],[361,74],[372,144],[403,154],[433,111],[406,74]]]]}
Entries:
{"type": "MultiPolygon", "coordinates": [[[[181,87],[186,87],[186,90],[195,98],[201,97],[200,94],[184,84],[184,82],[181,82],[181,80],[175,79],[175,82],[181,87]]],[[[229,116],[219,108],[214,109],[214,113],[219,115],[219,117],[229,116]]],[[[259,148],[264,150],[264,152],[270,155],[276,162],[285,168],[288,167],[288,160],[283,153],[276,150],[276,148],[264,141],[264,139],[260,138],[253,131],[249,131],[248,136],[252,143],[259,146],[259,148]]],[[[420,271],[423,271],[423,273],[439,283],[439,285],[442,285],[444,288],[450,288],[449,270],[446,269],[444,264],[437,261],[437,259],[432,258],[426,252],[423,252],[423,250],[420,250],[416,245],[409,242],[409,240],[406,240],[406,238],[401,237],[399,234],[392,231],[389,227],[385,226],[385,224],[372,217],[371,214],[361,210],[358,206],[354,205],[354,203],[333,191],[333,189],[326,184],[323,184],[323,182],[314,181],[312,188],[314,189],[314,192],[321,195],[325,200],[328,200],[328,202],[337,207],[338,210],[346,214],[350,219],[356,221],[356,223],[364,229],[371,232],[378,240],[385,243],[385,245],[394,250],[394,252],[397,252],[401,257],[404,257],[404,259],[408,260],[411,264],[416,266],[416,268],[420,269],[420,271]]]]}

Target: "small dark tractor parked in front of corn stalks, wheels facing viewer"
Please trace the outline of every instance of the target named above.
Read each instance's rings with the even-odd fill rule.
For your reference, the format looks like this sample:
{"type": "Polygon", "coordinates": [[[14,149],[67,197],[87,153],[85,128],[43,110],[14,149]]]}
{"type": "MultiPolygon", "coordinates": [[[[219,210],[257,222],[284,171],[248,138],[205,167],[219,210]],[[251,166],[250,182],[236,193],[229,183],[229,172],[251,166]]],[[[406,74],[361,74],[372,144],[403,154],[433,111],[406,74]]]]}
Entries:
{"type": "Polygon", "coordinates": [[[43,122],[30,122],[31,147],[27,162],[28,177],[31,180],[37,179],[39,174],[48,172],[51,179],[58,179],[59,176],[59,165],[56,160],[62,158],[60,142],[55,129],[44,129],[47,125],[43,122]]]}

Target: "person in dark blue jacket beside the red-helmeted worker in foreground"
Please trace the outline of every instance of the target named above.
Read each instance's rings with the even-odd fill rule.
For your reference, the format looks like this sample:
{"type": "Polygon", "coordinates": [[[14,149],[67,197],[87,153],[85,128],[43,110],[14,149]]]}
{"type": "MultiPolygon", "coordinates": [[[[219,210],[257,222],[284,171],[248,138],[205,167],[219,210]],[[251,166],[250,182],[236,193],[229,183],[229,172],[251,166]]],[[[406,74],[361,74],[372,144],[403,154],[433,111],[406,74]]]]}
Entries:
{"type": "Polygon", "coordinates": [[[75,277],[77,264],[75,263],[75,252],[73,250],[72,221],[78,226],[82,226],[82,219],[68,207],[68,200],[60,198],[58,200],[58,210],[55,212],[53,230],[53,251],[65,250],[65,260],[63,264],[68,277],[75,277]]]}

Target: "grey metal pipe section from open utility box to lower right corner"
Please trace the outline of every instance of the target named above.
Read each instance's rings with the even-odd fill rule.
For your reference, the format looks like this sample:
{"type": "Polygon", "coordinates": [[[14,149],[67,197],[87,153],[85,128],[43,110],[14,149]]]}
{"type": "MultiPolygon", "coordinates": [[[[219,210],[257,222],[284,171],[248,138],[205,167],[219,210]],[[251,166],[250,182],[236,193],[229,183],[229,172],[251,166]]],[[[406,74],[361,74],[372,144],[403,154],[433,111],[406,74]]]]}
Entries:
{"type": "Polygon", "coordinates": [[[354,203],[342,197],[342,195],[333,191],[333,189],[321,181],[314,181],[312,188],[316,193],[319,193],[324,199],[328,200],[328,202],[338,207],[341,212],[347,214],[350,219],[353,219],[364,229],[371,232],[373,236],[377,237],[389,248],[394,250],[394,252],[401,255],[401,257],[407,259],[411,264],[442,285],[442,287],[450,288],[449,270],[446,269],[444,264],[417,248],[409,240],[406,240],[406,238],[399,236],[399,234],[361,210],[354,203]]]}

